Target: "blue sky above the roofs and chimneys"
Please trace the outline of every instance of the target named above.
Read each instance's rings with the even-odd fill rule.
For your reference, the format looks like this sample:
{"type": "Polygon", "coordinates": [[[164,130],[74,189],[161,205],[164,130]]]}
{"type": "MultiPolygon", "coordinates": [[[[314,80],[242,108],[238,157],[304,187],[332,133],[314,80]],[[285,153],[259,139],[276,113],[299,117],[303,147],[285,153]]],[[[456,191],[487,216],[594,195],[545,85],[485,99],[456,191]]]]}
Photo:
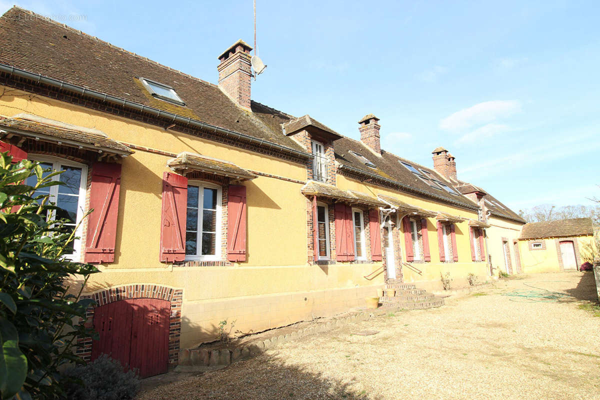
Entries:
{"type": "MultiPolygon", "coordinates": [[[[251,0],[17,5],[210,82],[223,50],[253,41],[251,0]]],[[[598,1],[257,0],[268,68],[252,98],[355,139],[374,113],[383,148],[432,166],[444,146],[458,178],[514,210],[591,204],[598,16],[598,1]]]]}

